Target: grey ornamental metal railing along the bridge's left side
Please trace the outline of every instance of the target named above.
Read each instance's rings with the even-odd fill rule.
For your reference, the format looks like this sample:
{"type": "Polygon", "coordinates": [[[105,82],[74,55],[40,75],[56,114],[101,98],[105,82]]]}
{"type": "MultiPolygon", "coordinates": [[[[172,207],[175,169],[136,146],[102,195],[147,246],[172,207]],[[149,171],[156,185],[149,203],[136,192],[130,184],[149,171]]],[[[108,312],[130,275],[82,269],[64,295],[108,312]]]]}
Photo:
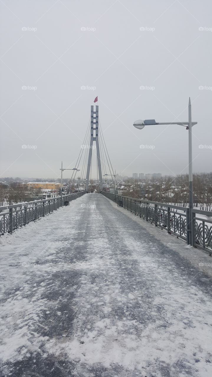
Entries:
{"type": "Polygon", "coordinates": [[[64,195],[62,198],[61,196],[57,196],[56,198],[0,207],[0,211],[4,212],[0,213],[0,236],[5,233],[12,234],[15,229],[18,229],[31,221],[49,215],[63,205],[66,205],[67,202],[71,202],[72,200],[86,194],[86,192],[87,191],[64,195]]]}

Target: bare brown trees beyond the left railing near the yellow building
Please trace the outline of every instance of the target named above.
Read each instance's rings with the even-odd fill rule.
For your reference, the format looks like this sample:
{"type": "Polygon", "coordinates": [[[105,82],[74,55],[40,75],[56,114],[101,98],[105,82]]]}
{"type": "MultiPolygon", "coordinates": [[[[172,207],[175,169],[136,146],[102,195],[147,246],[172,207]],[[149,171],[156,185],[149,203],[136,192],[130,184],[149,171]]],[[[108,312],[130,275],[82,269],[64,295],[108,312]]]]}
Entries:
{"type": "Polygon", "coordinates": [[[5,184],[0,182],[0,206],[30,202],[42,199],[42,190],[35,189],[20,182],[5,184]]]}

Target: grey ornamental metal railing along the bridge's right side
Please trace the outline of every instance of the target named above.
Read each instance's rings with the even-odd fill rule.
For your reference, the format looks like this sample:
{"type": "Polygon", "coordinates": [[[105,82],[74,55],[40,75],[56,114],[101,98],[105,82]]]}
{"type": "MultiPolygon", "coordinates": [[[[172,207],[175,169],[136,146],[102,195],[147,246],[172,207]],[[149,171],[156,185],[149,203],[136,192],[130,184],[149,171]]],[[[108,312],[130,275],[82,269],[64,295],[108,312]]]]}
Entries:
{"type": "Polygon", "coordinates": [[[184,239],[187,244],[202,248],[211,256],[212,212],[194,208],[191,210],[192,218],[190,220],[189,208],[135,199],[104,191],[101,193],[140,218],[155,224],[156,227],[166,229],[167,233],[175,234],[177,238],[184,239]]]}

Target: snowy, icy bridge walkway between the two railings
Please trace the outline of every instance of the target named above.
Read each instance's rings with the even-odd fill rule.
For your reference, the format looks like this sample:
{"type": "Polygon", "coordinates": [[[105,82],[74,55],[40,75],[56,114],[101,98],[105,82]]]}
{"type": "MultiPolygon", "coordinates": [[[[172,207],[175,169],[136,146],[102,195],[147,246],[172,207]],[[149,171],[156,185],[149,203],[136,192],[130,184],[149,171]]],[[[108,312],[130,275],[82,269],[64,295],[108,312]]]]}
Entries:
{"type": "Polygon", "coordinates": [[[203,251],[94,193],[0,242],[1,376],[212,375],[203,251]]]}

